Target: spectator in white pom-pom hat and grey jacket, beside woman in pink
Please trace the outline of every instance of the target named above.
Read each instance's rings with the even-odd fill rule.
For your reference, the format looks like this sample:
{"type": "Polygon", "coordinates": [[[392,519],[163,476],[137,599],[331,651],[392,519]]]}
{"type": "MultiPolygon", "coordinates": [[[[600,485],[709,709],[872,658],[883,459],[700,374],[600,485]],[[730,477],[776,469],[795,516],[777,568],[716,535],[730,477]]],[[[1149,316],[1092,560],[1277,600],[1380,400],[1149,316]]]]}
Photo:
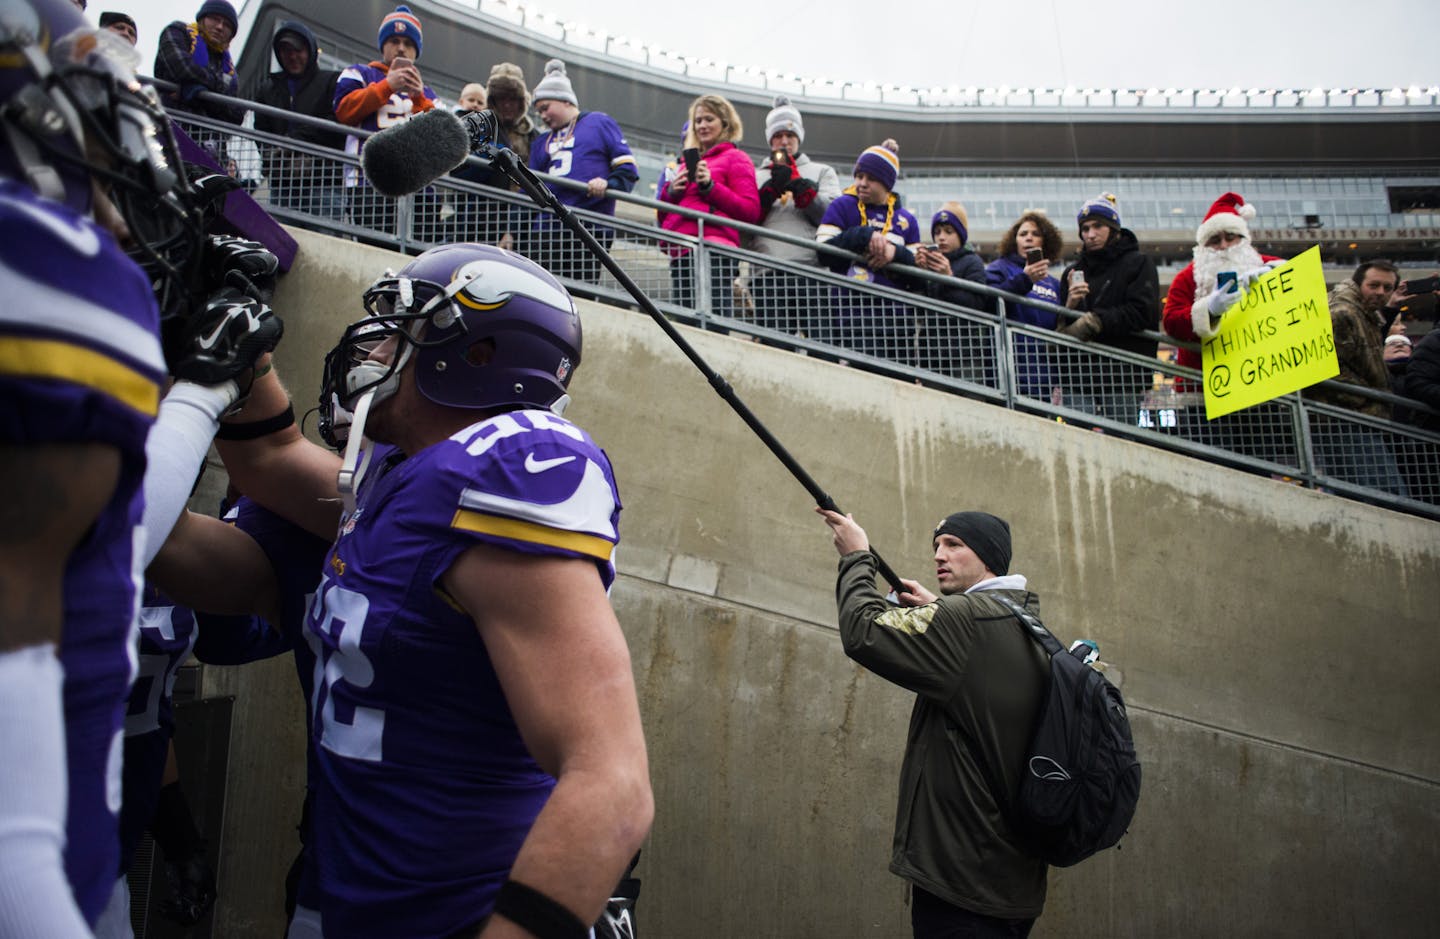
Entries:
{"type": "MultiPolygon", "coordinates": [[[[765,138],[770,151],[755,171],[760,187],[760,225],[772,232],[814,241],[825,209],[840,196],[840,174],[801,150],[805,145],[805,122],[785,95],[776,95],[775,107],[765,115],[765,138]],[[776,160],[776,156],[780,158],[776,160]]],[[[788,242],[753,238],[749,248],[776,261],[816,264],[812,248],[788,242]]],[[[756,323],[782,333],[804,331],[808,321],[805,311],[816,301],[814,281],[753,265],[750,297],[755,300],[756,323]]]]}

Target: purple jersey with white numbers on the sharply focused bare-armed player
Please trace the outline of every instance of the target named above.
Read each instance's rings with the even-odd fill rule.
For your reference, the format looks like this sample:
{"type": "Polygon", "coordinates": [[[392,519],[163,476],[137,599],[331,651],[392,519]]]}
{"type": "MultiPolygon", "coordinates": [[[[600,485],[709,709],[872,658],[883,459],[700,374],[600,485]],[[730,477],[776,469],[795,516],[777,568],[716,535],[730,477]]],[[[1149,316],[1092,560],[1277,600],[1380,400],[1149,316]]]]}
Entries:
{"type": "Polygon", "coordinates": [[[490,912],[554,781],[441,578],[490,544],[590,560],[609,588],[619,510],[605,452],[550,412],[377,449],[307,619],[327,935],[449,936],[490,912]]]}

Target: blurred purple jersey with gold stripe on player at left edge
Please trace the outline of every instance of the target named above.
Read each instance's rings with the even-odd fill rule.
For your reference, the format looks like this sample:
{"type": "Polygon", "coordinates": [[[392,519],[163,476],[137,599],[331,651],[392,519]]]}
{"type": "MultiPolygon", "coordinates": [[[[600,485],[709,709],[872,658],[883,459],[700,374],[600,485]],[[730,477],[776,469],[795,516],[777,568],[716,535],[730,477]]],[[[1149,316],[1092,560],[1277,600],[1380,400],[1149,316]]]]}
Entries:
{"type": "Polygon", "coordinates": [[[0,441],[102,442],[122,458],[109,504],[65,572],[65,868],[88,922],[120,868],[120,762],[145,435],[166,366],[150,281],[88,219],[0,180],[0,441]]]}

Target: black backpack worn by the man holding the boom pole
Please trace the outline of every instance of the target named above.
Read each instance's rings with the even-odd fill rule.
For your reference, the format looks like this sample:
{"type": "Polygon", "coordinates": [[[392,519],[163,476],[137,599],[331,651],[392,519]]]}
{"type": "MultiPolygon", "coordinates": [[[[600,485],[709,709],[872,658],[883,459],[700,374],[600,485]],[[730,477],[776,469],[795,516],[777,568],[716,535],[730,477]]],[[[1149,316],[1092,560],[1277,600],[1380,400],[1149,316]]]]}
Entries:
{"type": "Polygon", "coordinates": [[[1119,688],[1066,651],[1032,614],[996,596],[1050,655],[1050,686],[1030,737],[1011,819],[1031,853],[1079,864],[1120,840],[1140,801],[1140,760],[1119,688]]]}

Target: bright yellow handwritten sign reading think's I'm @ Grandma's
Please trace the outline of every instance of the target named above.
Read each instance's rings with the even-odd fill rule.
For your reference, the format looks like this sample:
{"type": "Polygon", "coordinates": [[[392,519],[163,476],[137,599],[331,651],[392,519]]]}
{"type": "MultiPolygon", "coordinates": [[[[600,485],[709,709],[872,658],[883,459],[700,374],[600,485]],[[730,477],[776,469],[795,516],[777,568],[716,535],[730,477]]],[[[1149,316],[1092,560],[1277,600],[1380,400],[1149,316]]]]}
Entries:
{"type": "Polygon", "coordinates": [[[1251,284],[1201,359],[1210,421],[1339,374],[1319,245],[1251,284]]]}

